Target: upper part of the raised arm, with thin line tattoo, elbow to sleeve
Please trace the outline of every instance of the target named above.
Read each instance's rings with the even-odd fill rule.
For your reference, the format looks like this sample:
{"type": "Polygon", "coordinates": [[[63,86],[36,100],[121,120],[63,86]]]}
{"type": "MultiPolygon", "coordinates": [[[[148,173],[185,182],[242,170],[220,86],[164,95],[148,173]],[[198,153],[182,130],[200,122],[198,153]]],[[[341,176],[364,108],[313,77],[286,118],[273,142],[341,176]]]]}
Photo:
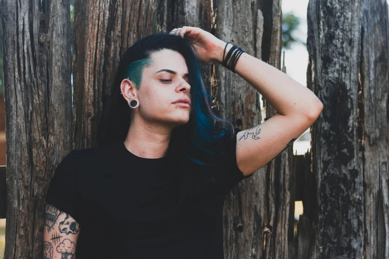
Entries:
{"type": "Polygon", "coordinates": [[[236,164],[249,175],[288,148],[315,121],[309,117],[276,114],[262,124],[236,135],[236,164]]]}

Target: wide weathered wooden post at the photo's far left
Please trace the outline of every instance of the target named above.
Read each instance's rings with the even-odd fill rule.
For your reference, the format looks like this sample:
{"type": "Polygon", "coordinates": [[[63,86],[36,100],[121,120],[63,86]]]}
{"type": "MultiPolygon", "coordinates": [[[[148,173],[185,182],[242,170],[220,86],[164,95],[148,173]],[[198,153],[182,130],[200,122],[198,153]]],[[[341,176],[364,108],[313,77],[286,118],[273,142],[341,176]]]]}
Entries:
{"type": "Polygon", "coordinates": [[[72,150],[70,3],[1,0],[0,6],[7,171],[4,259],[42,258],[44,197],[56,165],[72,150]]]}

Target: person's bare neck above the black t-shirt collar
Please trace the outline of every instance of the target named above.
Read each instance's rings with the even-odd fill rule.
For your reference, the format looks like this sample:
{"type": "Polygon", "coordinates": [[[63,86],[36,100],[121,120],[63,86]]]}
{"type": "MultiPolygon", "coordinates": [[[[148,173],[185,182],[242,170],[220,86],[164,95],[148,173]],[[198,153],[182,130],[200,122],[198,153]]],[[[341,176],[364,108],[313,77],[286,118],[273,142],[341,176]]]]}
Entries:
{"type": "Polygon", "coordinates": [[[171,129],[133,121],[128,129],[124,145],[136,156],[160,158],[166,155],[170,135],[171,129]]]}

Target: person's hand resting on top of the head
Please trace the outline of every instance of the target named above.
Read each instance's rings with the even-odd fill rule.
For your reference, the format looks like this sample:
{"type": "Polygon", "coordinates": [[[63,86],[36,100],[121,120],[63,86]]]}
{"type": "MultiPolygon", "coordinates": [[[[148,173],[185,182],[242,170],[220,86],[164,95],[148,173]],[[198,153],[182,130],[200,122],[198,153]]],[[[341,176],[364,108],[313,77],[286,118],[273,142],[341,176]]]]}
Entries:
{"type": "MultiPolygon", "coordinates": [[[[181,37],[186,37],[193,44],[197,51],[197,58],[200,62],[217,63],[219,60],[222,60],[222,57],[217,57],[220,55],[220,47],[226,45],[225,42],[216,38],[211,33],[204,31],[198,27],[183,26],[182,28],[173,29],[170,34],[179,35],[181,37]]],[[[222,50],[222,55],[223,55],[222,50]]]]}

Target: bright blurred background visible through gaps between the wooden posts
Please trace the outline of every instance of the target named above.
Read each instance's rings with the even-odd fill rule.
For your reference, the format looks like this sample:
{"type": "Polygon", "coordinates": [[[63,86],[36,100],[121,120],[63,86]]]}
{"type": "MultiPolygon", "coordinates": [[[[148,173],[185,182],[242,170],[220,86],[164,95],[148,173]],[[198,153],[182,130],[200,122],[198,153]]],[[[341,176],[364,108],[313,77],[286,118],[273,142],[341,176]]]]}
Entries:
{"type": "MultiPolygon", "coordinates": [[[[300,84],[307,86],[308,52],[307,41],[307,7],[309,0],[282,1],[283,51],[285,51],[286,73],[300,84]]],[[[71,0],[71,29],[73,31],[73,3],[71,0]]],[[[0,20],[1,25],[1,20],[0,20]]],[[[0,26],[0,166],[5,166],[5,114],[4,114],[4,84],[2,76],[2,32],[0,26]]],[[[73,40],[71,41],[73,42],[73,40]]],[[[261,106],[263,103],[261,101],[261,106]]],[[[262,120],[265,117],[262,111],[262,120]]],[[[294,153],[304,154],[310,150],[310,131],[303,133],[294,142],[294,153]]],[[[296,201],[295,220],[303,213],[301,201],[296,201]]],[[[0,259],[4,254],[5,219],[0,219],[0,259]]]]}

